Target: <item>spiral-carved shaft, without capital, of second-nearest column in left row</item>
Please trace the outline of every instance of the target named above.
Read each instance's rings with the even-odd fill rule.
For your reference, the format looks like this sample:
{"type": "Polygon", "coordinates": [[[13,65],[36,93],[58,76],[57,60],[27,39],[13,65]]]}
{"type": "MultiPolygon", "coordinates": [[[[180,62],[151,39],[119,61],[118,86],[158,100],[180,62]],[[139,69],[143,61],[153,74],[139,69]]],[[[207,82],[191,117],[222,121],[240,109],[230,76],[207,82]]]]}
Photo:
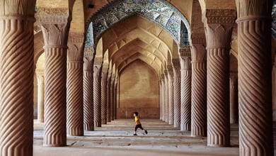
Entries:
{"type": "Polygon", "coordinates": [[[45,48],[44,145],[47,146],[67,144],[66,57],[67,48],[45,48]]]}

